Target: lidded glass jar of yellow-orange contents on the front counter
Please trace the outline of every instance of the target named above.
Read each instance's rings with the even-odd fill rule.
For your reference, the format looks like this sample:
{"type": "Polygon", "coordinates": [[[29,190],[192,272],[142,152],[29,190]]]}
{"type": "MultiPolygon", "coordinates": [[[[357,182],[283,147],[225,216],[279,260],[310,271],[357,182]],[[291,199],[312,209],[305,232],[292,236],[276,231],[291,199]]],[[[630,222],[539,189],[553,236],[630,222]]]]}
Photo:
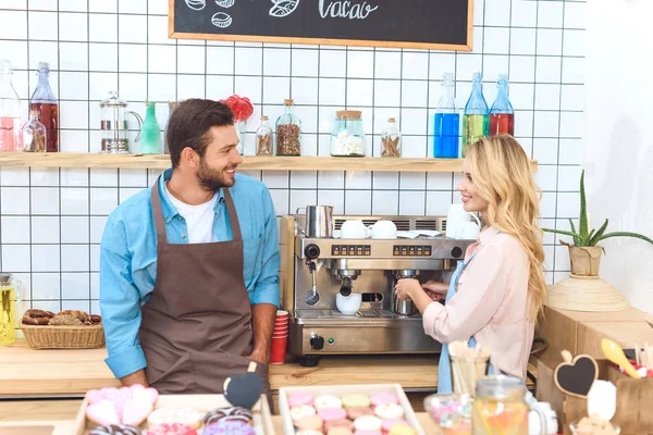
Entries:
{"type": "MultiPolygon", "coordinates": [[[[477,381],[472,406],[473,435],[523,435],[529,433],[529,405],[523,381],[505,375],[477,381]]],[[[546,415],[537,407],[540,434],[546,435],[546,415]]]]}

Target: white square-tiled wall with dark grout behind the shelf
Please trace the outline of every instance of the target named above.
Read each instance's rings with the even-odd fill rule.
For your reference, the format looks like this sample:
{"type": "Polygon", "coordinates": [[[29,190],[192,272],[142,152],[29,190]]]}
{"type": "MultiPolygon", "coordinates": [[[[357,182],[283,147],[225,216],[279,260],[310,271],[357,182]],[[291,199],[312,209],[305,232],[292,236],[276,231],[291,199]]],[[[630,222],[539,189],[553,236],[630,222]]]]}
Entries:
{"type": "MultiPolygon", "coordinates": [[[[484,74],[489,103],[496,75],[508,74],[516,137],[540,162],[543,224],[566,228],[566,219],[577,216],[584,1],[477,0],[471,53],[174,40],[168,38],[167,7],[165,0],[0,0],[0,59],[15,67],[25,116],[37,82],[33,70],[48,61],[64,151],[99,150],[99,102],[119,89],[140,114],[146,98],[158,102],[161,125],[169,100],[248,96],[256,104],[245,146],[250,153],[258,116],[275,120],[283,99],[292,97],[304,122],[304,154],[329,156],[334,112],[356,108],[364,111],[370,154],[379,156],[385,120],[395,116],[404,156],[428,157],[443,73],[455,72],[459,107],[475,72],[484,74]]],[[[35,307],[97,311],[107,216],[159,173],[0,167],[0,270],[17,274],[35,307]]],[[[332,204],[336,213],[445,214],[451,202],[459,202],[458,174],[248,175],[268,185],[278,214],[308,203],[332,204]]],[[[545,238],[549,282],[567,275],[558,238],[545,238]]]]}

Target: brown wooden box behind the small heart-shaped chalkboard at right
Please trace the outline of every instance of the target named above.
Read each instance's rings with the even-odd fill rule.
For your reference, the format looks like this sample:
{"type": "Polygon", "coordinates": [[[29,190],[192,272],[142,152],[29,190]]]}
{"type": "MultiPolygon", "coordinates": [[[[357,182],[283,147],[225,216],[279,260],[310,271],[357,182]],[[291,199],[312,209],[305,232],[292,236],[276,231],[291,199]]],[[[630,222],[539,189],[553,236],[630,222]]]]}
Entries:
{"type": "MultiPolygon", "coordinates": [[[[621,435],[653,435],[653,378],[633,380],[606,360],[596,363],[599,378],[617,387],[617,410],[612,423],[621,427],[621,435]]],[[[560,431],[570,435],[569,423],[587,417],[588,401],[559,391],[553,384],[554,370],[555,364],[539,362],[537,397],[551,403],[558,414],[560,431]]]]}

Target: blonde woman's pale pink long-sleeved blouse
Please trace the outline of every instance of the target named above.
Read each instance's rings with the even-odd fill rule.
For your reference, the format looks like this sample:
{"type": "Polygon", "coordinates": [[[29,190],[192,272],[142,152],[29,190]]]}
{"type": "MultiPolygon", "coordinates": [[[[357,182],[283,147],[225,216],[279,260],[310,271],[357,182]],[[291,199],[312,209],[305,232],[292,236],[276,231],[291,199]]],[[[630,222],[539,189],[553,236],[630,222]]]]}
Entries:
{"type": "Polygon", "coordinates": [[[424,332],[446,344],[473,336],[490,347],[495,368],[523,380],[534,334],[528,319],[528,256],[519,241],[494,227],[481,232],[465,260],[475,253],[460,274],[456,295],[446,306],[427,307],[424,332]]]}

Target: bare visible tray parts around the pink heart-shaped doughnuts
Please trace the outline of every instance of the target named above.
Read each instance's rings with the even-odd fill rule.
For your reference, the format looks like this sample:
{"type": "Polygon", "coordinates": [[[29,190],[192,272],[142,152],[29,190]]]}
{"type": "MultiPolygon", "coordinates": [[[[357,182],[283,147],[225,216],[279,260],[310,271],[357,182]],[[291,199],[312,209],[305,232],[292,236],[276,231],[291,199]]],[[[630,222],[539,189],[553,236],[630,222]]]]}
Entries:
{"type": "MultiPolygon", "coordinates": [[[[97,427],[86,419],[86,407],[88,399],[85,397],[79,412],[75,419],[74,435],[87,435],[90,430],[97,427]]],[[[215,408],[230,408],[231,405],[223,395],[160,395],[155,405],[155,409],[159,408],[193,408],[201,412],[208,412],[215,408]]],[[[275,435],[272,424],[272,414],[268,398],[261,395],[261,399],[254,406],[254,430],[257,435],[275,435]]],[[[140,426],[141,430],[147,428],[147,421],[140,426]]],[[[145,432],[144,432],[145,434],[145,432]]],[[[72,434],[71,434],[72,435],[72,434]]]]}

